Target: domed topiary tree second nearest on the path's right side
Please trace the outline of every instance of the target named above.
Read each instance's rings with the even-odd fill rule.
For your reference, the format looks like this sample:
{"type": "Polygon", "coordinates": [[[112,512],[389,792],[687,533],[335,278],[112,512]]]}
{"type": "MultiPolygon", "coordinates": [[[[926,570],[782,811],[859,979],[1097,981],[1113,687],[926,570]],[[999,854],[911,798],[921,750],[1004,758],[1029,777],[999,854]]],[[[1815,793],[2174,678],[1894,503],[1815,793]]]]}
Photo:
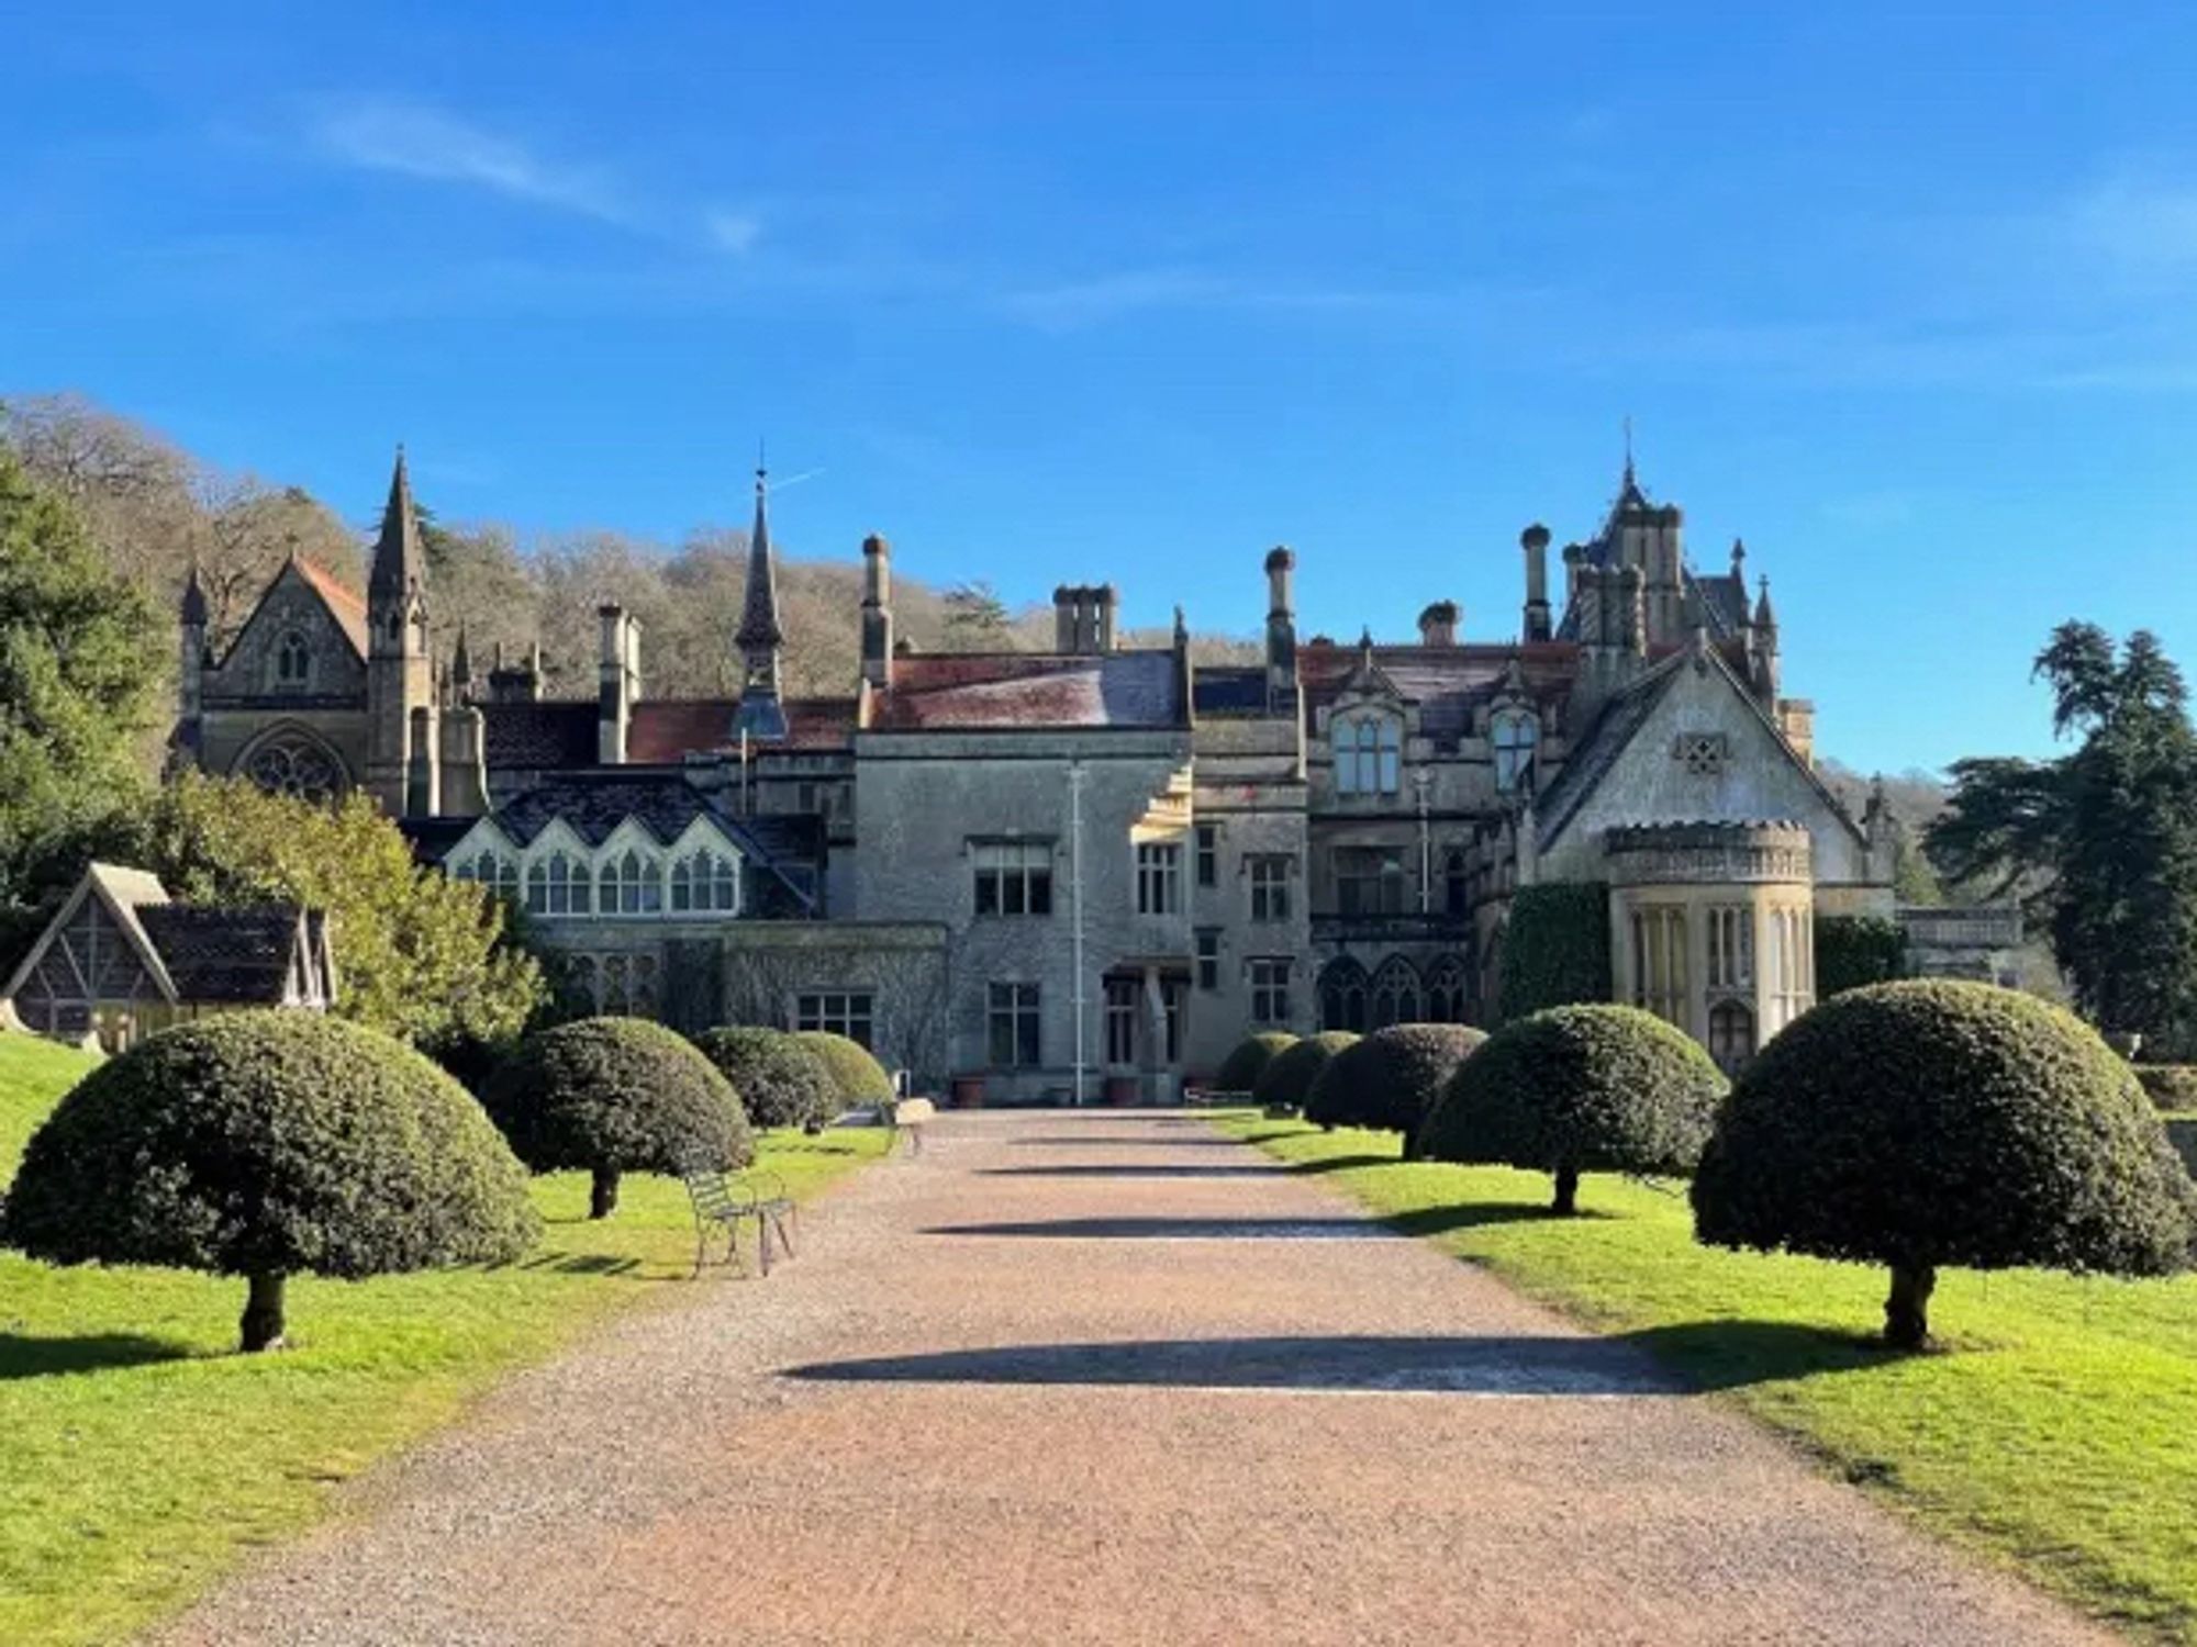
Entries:
{"type": "Polygon", "coordinates": [[[1419,1153],[1555,1177],[1580,1210],[1580,1173],[1692,1173],[1725,1076],[1700,1043],[1637,1006],[1551,1006],[1505,1023],[1465,1058],[1426,1118],[1419,1153]]]}

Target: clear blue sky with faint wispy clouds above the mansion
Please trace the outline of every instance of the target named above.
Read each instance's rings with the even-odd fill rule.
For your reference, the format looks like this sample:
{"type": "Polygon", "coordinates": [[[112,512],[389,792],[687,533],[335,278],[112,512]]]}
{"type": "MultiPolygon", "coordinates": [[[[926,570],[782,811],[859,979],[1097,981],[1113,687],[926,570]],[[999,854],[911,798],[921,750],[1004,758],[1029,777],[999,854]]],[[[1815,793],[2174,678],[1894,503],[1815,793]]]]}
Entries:
{"type": "Polygon", "coordinates": [[[2045,630],[2197,665],[2188,7],[44,7],[0,389],[365,520],[791,553],[1252,630],[1617,483],[1766,571],[1861,766],[2041,751],[2045,630]],[[1650,15],[1652,13],[1652,15],[1650,15]]]}

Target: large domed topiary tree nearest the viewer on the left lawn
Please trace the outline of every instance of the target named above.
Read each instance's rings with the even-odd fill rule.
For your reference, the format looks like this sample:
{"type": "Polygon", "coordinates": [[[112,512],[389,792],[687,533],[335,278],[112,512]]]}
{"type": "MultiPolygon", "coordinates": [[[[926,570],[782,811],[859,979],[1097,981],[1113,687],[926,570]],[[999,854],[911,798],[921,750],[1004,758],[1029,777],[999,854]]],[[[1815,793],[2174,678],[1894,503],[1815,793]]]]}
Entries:
{"type": "Polygon", "coordinates": [[[508,1263],[538,1232],[464,1087],[316,1012],[185,1023],[88,1074],[31,1138],[0,1228],[51,1263],[244,1276],[246,1351],[281,1344],[290,1276],[508,1263]]]}

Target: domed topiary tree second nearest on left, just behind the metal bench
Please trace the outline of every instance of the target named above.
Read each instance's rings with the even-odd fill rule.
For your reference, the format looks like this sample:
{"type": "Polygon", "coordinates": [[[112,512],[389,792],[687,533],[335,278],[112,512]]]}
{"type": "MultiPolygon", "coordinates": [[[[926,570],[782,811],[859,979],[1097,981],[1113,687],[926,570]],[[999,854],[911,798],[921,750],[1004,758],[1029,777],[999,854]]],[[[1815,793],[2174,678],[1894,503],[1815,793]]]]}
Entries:
{"type": "Polygon", "coordinates": [[[694,1043],[646,1019],[543,1030],[481,1096],[536,1173],[593,1173],[587,1214],[617,1210],[622,1173],[734,1168],[756,1157],[732,1085],[694,1043]]]}

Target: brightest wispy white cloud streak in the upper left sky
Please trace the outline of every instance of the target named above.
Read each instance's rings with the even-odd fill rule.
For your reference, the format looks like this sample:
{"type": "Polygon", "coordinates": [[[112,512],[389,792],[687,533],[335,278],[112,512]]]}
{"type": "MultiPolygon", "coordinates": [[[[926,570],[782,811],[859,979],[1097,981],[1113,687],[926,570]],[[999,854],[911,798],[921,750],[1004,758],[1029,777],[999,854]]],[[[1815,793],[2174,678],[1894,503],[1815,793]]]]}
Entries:
{"type": "Polygon", "coordinates": [[[369,171],[470,184],[604,222],[633,217],[602,167],[551,160],[424,103],[345,103],[319,116],[314,138],[334,158],[369,171]]]}

